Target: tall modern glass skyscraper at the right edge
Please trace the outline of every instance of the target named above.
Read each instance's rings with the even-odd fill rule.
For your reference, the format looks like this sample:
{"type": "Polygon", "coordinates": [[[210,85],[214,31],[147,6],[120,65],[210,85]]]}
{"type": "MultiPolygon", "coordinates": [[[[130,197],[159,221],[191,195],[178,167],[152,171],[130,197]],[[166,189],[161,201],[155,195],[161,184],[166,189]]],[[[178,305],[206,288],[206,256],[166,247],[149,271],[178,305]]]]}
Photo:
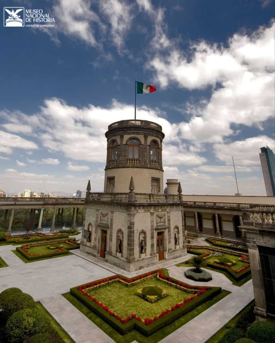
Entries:
{"type": "Polygon", "coordinates": [[[275,154],[268,146],[261,148],[260,161],[263,170],[266,195],[275,196],[275,154]]]}

